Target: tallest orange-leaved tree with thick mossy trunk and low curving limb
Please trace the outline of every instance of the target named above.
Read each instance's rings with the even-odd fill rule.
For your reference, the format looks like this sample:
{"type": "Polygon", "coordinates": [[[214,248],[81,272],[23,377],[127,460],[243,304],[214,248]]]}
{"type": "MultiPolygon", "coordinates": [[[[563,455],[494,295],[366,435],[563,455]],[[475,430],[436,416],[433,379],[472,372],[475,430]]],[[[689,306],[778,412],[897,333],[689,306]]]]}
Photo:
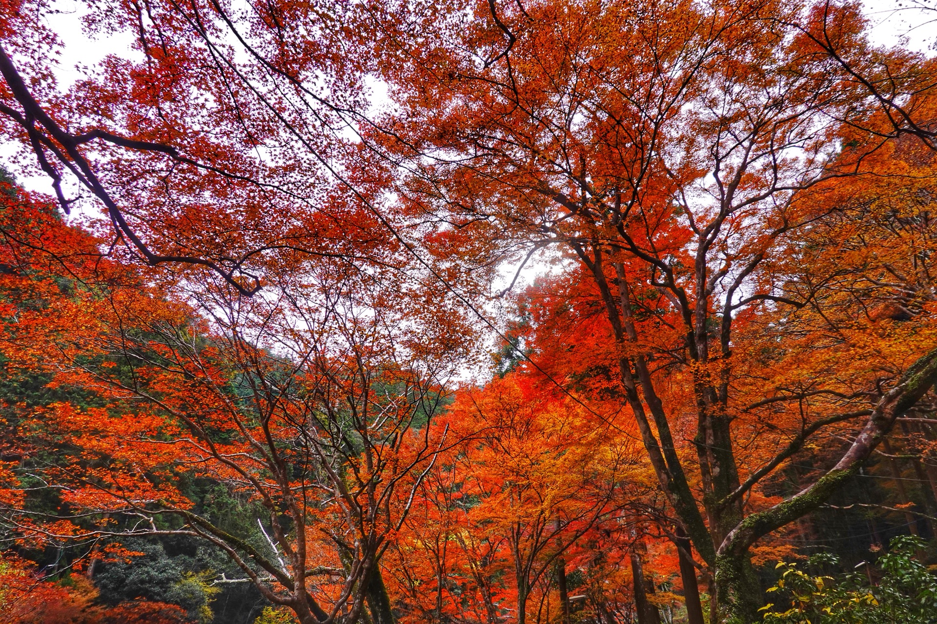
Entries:
{"type": "Polygon", "coordinates": [[[865,390],[835,376],[820,378],[818,395],[781,385],[770,404],[827,392],[870,402],[784,423],[780,453],[743,450],[736,379],[758,361],[745,320],[818,305],[819,286],[791,296],[799,276],[778,263],[839,208],[840,181],[874,175],[869,158],[896,149],[874,95],[817,29],[902,67],[889,88],[915,123],[932,102],[923,59],[870,47],[849,4],[489,2],[395,19],[402,11],[388,8],[380,39],[400,109],[372,133],[407,163],[397,193],[458,245],[454,262],[523,266],[554,247],[574,279],[595,284],[617,380],[681,529],[714,571],[720,617],[753,621],[751,545],[855,474],[937,373],[930,344],[915,341],[893,358],[900,370],[867,377],[865,390]],[[662,375],[677,371],[692,394],[671,403],[662,375]],[[695,413],[692,459],[677,437],[683,409],[695,413]],[[865,420],[854,442],[813,484],[746,504],[811,436],[855,418],[865,420]]]}

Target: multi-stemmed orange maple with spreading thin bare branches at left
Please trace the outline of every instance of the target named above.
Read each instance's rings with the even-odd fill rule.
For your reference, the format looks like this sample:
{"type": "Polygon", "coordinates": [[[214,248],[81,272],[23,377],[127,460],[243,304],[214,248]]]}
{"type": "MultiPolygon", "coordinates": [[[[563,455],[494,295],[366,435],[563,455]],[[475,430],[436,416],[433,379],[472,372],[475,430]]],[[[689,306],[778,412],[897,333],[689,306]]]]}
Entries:
{"type": "Polygon", "coordinates": [[[365,609],[393,621],[379,560],[413,498],[397,489],[418,486],[409,473],[440,450],[424,425],[454,366],[456,316],[415,305],[392,268],[305,255],[265,297],[146,279],[50,205],[6,189],[7,370],[48,371],[97,397],[7,423],[7,530],[21,544],[198,538],[243,573],[221,582],[253,583],[303,622],[365,609]],[[447,349],[426,331],[440,314],[447,349]],[[256,530],[199,509],[193,480],[256,506],[256,530]],[[27,504],[37,488],[57,511],[27,504]]]}

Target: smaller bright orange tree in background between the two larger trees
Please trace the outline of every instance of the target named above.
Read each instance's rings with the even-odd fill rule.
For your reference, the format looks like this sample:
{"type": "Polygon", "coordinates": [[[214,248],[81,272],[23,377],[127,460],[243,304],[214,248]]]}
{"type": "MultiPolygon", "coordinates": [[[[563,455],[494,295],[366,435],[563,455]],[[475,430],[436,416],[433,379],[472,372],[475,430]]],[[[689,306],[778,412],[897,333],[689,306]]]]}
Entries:
{"type": "Polygon", "coordinates": [[[463,442],[416,490],[390,559],[414,621],[571,621],[567,561],[592,559],[583,544],[602,531],[627,533],[654,490],[617,412],[522,371],[456,394],[435,435],[463,442]]]}

